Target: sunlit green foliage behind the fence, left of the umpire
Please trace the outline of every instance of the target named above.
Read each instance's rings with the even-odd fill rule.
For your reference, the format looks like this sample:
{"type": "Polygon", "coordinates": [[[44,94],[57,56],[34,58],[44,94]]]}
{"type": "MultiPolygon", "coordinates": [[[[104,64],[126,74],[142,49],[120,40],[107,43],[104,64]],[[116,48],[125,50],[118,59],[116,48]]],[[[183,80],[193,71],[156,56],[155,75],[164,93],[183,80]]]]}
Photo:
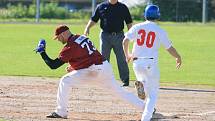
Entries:
{"type": "MultiPolygon", "coordinates": [[[[7,5],[7,9],[0,9],[0,18],[35,18],[36,5],[31,4],[29,6],[18,4],[18,5],[7,5]]],[[[91,15],[90,11],[78,10],[75,12],[69,12],[64,7],[59,7],[58,3],[41,3],[40,4],[40,17],[41,18],[57,18],[57,19],[89,19],[91,15]]]]}

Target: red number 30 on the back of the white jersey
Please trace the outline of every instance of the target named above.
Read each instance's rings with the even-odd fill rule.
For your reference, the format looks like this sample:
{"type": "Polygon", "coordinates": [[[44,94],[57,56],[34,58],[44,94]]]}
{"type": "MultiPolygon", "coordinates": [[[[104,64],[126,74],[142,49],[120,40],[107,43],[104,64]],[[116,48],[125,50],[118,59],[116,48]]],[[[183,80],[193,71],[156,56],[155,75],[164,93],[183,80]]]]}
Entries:
{"type": "Polygon", "coordinates": [[[141,39],[137,39],[137,44],[142,46],[146,39],[146,47],[151,48],[155,41],[155,32],[150,31],[148,34],[145,30],[141,29],[138,31],[138,34],[141,36],[141,39]],[[147,34],[147,35],[146,35],[147,34]]]}

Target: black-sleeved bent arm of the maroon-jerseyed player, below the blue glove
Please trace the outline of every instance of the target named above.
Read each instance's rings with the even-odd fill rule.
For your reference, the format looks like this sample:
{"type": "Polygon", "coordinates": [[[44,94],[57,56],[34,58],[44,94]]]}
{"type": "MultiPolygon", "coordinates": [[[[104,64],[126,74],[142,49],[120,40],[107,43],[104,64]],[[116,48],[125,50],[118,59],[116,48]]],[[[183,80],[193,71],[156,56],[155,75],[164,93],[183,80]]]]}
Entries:
{"type": "Polygon", "coordinates": [[[59,58],[56,58],[55,60],[52,60],[49,58],[49,56],[46,54],[46,52],[40,53],[42,59],[44,62],[51,68],[51,69],[57,69],[60,66],[62,66],[65,62],[60,60],[59,58]]]}

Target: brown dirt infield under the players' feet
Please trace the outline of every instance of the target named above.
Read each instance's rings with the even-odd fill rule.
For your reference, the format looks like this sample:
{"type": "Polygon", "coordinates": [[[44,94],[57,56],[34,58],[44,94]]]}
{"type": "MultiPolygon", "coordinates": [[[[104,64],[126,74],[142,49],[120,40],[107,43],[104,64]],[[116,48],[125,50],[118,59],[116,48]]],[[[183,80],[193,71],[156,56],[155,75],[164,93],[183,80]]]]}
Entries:
{"type": "MultiPolygon", "coordinates": [[[[58,80],[1,76],[0,120],[51,121],[45,115],[55,108],[58,80]]],[[[133,86],[126,89],[135,93],[133,86]]],[[[63,121],[136,121],[141,116],[96,85],[72,88],[70,95],[69,118],[63,121]]],[[[215,89],[161,87],[156,108],[153,121],[215,121],[215,89]]]]}

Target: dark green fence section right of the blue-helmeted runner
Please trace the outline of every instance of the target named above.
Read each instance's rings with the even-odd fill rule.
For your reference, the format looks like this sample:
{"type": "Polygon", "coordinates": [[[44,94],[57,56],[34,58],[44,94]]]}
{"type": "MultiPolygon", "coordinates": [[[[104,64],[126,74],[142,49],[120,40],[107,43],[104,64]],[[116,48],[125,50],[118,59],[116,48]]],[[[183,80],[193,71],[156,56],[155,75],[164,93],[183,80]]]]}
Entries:
{"type": "Polygon", "coordinates": [[[201,22],[215,20],[215,0],[152,0],[160,6],[163,21],[201,22]],[[205,11],[204,11],[205,2],[205,11]]]}

